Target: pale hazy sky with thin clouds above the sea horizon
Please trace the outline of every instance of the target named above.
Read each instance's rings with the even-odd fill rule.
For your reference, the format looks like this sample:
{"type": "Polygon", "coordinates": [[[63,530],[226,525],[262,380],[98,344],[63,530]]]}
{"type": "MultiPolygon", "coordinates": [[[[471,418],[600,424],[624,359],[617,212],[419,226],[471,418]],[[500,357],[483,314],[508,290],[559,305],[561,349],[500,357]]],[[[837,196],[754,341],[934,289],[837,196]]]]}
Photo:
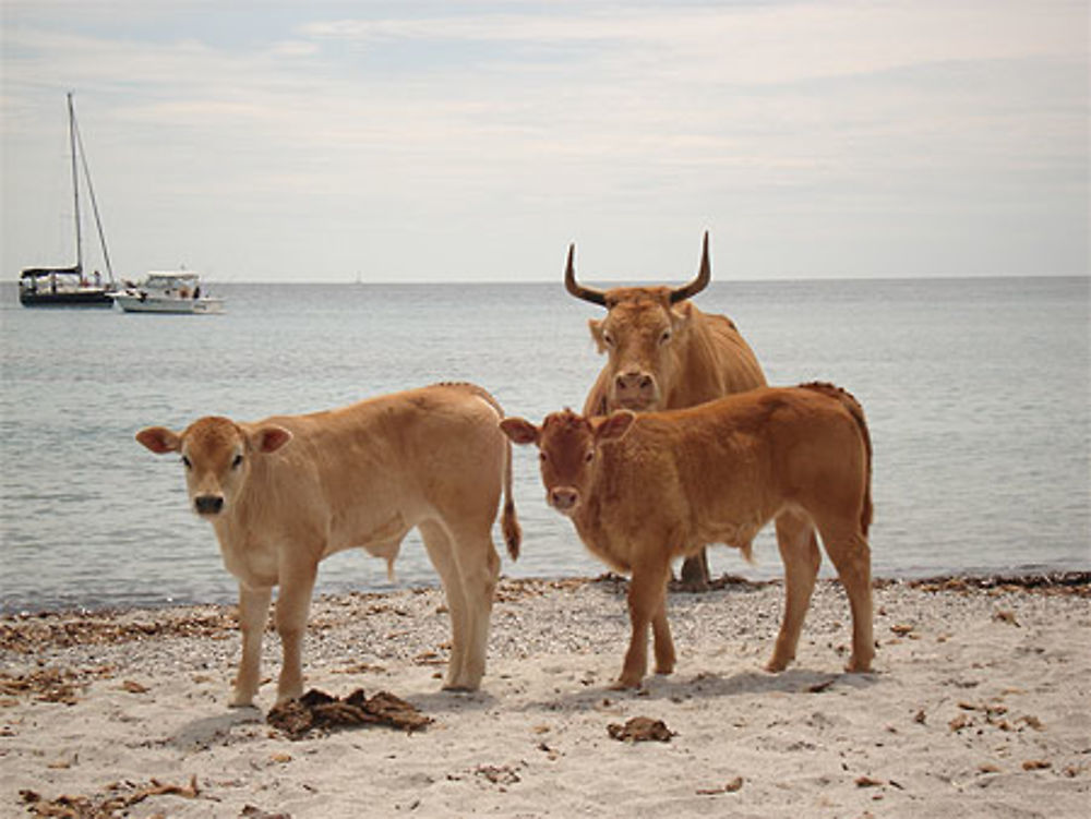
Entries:
{"type": "Polygon", "coordinates": [[[74,256],[70,91],[127,278],[1089,273],[1084,0],[0,10],[4,279],[74,256]]]}

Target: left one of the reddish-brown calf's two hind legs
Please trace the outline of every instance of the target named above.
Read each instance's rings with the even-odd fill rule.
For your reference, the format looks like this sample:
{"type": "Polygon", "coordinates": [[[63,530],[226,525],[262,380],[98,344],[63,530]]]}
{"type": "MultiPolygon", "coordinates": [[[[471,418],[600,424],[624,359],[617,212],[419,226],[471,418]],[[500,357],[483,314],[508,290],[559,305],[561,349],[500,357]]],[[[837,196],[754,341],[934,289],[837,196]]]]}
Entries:
{"type": "Polygon", "coordinates": [[[784,617],[772,659],[765,666],[771,672],[783,671],[795,659],[800,631],[822,563],[814,526],[810,518],[799,513],[786,511],[777,518],[777,545],[784,563],[784,617]]]}

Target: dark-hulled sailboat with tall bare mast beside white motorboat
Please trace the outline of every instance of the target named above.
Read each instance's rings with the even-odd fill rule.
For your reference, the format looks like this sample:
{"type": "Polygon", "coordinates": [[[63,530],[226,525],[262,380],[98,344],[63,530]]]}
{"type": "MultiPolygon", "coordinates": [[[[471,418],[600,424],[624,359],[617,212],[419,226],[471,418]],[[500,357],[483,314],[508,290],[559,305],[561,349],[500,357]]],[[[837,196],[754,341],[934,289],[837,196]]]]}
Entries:
{"type": "Polygon", "coordinates": [[[103,221],[98,216],[98,203],[95,201],[95,189],[91,183],[91,171],[87,169],[87,157],[83,150],[83,138],[75,121],[75,109],[72,106],[72,95],[68,95],[69,109],[69,146],[72,155],[72,197],[75,204],[75,264],[71,267],[27,267],[19,277],[19,300],[27,308],[111,308],[113,306],[113,268],[110,265],[110,253],[106,248],[106,234],[103,232],[103,221]],[[83,269],[83,231],[80,220],[80,169],[87,183],[92,212],[95,215],[95,226],[98,229],[98,241],[103,248],[103,260],[106,263],[107,281],[98,270],[88,277],[83,269]]]}

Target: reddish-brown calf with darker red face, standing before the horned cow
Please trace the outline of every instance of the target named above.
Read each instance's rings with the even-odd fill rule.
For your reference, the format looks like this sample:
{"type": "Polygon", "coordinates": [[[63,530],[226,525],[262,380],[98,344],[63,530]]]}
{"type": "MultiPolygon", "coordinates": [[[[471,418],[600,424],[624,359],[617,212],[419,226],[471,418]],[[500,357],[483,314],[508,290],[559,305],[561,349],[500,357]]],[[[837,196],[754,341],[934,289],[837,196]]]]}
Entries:
{"type": "MultiPolygon", "coordinates": [[[[516,444],[538,445],[547,502],[595,555],[632,573],[633,636],[616,687],[644,678],[649,623],[656,671],[674,669],[671,558],[712,543],[748,558],[757,532],[786,510],[817,527],[848,593],[847,670],[871,670],[872,450],[863,410],[848,393],[828,384],[766,387],[685,410],[591,419],[565,410],[541,426],[509,418],[501,429],[516,444]]],[[[786,605],[769,671],[795,657],[820,561],[810,531],[780,542],[786,605]]]]}

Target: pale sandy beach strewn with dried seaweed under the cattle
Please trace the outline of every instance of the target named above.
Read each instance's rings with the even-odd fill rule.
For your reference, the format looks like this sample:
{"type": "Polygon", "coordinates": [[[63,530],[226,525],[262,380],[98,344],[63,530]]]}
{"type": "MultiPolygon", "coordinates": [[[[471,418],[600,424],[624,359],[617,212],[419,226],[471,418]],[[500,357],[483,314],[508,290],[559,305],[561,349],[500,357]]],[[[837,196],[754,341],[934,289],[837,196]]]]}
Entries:
{"type": "Polygon", "coordinates": [[[260,709],[227,708],[230,607],[7,617],[0,816],[1086,816],[1089,592],[879,583],[866,675],[841,673],[836,582],[777,675],[779,583],[673,593],[678,670],[635,692],[609,688],[628,634],[616,579],[503,580],[475,694],[440,690],[439,590],[322,598],[308,687],[389,691],[432,722],[299,739],[265,721],[273,683],[260,709]],[[659,738],[612,736],[634,718],[659,738]]]}

